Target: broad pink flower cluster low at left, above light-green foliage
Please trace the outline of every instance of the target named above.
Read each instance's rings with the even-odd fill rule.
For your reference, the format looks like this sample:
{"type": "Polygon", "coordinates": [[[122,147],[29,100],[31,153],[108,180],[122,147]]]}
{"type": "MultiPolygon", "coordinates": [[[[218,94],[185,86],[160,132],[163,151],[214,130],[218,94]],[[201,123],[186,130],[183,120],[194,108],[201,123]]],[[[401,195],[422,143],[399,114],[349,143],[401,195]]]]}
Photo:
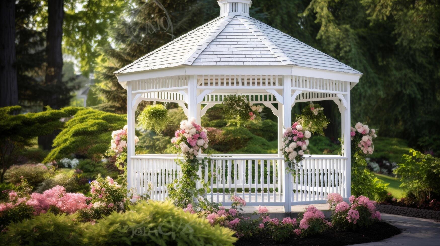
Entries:
{"type": "Polygon", "coordinates": [[[51,206],[59,208],[63,213],[75,213],[87,207],[87,200],[84,194],[66,192],[66,188],[57,185],[45,190],[43,194],[32,193],[26,205],[32,206],[35,214],[46,213],[51,206]]]}

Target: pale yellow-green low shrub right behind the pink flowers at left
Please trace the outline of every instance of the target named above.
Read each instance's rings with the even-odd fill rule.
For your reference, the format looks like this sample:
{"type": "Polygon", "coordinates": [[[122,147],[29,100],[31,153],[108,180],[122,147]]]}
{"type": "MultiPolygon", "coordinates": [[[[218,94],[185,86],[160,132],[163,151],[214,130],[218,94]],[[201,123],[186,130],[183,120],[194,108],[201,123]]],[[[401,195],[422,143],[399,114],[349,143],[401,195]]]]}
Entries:
{"type": "Polygon", "coordinates": [[[76,192],[79,189],[78,181],[76,179],[75,170],[61,168],[55,171],[55,174],[44,180],[40,185],[38,185],[36,192],[43,193],[57,185],[66,188],[66,192],[76,192]]]}

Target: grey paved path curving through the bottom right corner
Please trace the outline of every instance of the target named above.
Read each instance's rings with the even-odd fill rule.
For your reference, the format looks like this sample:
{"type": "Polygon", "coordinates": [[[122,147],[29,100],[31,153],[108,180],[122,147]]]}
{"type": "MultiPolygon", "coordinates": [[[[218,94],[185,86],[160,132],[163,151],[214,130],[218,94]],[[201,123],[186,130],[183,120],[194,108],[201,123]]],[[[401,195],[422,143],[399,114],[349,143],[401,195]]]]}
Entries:
{"type": "Polygon", "coordinates": [[[402,230],[402,233],[379,242],[357,244],[360,246],[440,246],[440,221],[381,213],[382,220],[402,230]]]}

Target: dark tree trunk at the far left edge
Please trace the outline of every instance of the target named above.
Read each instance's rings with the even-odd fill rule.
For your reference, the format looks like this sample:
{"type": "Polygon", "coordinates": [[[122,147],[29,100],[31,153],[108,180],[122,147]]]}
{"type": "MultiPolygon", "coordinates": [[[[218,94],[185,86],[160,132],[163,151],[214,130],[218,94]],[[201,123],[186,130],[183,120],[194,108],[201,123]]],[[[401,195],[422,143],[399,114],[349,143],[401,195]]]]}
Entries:
{"type": "Polygon", "coordinates": [[[0,1],[0,107],[18,105],[15,0],[0,1]]]}

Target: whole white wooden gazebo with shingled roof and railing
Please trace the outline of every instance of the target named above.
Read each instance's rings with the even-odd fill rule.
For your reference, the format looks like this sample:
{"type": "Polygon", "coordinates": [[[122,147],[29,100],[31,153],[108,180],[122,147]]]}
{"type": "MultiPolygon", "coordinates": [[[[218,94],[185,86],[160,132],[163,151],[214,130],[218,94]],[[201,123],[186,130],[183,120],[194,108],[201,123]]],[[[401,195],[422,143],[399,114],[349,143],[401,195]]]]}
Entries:
{"type": "MultiPolygon", "coordinates": [[[[325,203],[329,192],[350,196],[350,90],[362,73],[249,17],[251,0],[219,0],[220,16],[115,72],[127,89],[128,188],[165,199],[179,177],[176,155],[136,155],[135,111],[141,101],[178,103],[188,118],[200,117],[225,95],[246,95],[292,124],[296,102],[333,100],[341,112],[342,156],[308,155],[295,176],[278,154],[212,155],[199,175],[210,201],[230,205],[235,192],[247,205],[325,203]],[[149,189],[148,187],[151,187],[149,189]]],[[[176,129],[177,130],[177,129],[176,129]]],[[[280,146],[280,144],[279,144],[280,146]]]]}

